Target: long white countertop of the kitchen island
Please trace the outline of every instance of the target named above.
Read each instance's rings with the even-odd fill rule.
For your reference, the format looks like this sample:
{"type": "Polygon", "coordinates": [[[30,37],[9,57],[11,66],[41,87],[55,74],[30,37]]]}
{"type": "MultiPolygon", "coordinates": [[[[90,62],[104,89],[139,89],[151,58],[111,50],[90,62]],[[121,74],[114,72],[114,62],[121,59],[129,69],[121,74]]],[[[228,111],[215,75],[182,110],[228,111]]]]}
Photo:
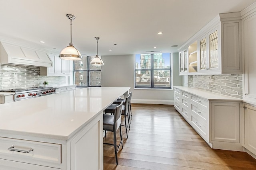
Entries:
{"type": "Polygon", "coordinates": [[[0,136],[67,140],[130,88],[90,87],[0,105],[0,136]]]}

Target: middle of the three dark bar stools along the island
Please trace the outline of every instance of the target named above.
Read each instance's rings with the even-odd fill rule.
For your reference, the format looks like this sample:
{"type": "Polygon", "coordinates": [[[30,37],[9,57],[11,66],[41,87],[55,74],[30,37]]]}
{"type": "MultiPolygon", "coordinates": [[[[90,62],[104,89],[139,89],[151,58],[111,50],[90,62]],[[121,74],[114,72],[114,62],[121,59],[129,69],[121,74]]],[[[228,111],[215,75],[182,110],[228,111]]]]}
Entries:
{"type": "MultiPolygon", "coordinates": [[[[127,138],[128,138],[127,127],[129,127],[129,129],[130,129],[130,120],[129,120],[129,114],[128,114],[129,113],[129,98],[130,98],[130,95],[128,95],[125,98],[124,105],[122,106],[122,115],[124,115],[124,123],[125,123],[125,125],[122,125],[122,126],[125,126],[127,138]],[[128,123],[127,123],[126,117],[128,117],[128,123]]],[[[108,106],[105,109],[105,113],[114,113],[116,106],[118,106],[118,104],[111,104],[110,106],[108,106]]]]}

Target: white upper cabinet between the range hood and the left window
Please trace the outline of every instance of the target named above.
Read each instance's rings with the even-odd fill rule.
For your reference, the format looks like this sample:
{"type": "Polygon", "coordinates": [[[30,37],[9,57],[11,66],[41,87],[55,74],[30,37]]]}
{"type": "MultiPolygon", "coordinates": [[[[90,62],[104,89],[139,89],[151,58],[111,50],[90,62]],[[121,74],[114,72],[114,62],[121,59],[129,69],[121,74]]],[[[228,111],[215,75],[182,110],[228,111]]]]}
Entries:
{"type": "Polygon", "coordinates": [[[48,53],[52,60],[53,67],[40,67],[40,75],[42,76],[70,76],[69,60],[62,60],[58,55],[48,53]]]}

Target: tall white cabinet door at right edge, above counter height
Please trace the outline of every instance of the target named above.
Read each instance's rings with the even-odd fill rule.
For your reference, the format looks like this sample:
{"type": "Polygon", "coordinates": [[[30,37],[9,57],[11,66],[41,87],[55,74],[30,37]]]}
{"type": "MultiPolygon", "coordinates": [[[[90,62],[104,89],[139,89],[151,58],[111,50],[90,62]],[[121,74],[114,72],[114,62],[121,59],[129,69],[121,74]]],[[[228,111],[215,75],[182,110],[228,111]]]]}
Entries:
{"type": "MultiPolygon", "coordinates": [[[[255,7],[256,8],[256,7],[255,7]]],[[[256,11],[254,9],[254,11],[256,11]]],[[[249,15],[248,13],[246,13],[249,15]]],[[[244,96],[243,99],[256,100],[256,14],[242,19],[243,53],[244,53],[244,96]]]]}

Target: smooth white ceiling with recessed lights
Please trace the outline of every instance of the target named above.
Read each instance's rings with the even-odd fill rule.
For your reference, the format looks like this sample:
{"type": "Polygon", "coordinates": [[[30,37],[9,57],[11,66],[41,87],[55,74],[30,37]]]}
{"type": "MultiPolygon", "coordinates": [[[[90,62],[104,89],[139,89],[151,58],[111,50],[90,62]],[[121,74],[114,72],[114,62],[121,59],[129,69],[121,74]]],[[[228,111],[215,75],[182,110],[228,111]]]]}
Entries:
{"type": "Polygon", "coordinates": [[[0,36],[60,52],[72,43],[83,55],[140,54],[177,49],[219,13],[256,0],[0,0],[0,36]],[[162,35],[157,33],[162,31],[162,35]],[[40,43],[39,41],[45,41],[40,43]],[[114,44],[117,44],[116,46],[114,44]],[[171,47],[178,45],[178,47],[171,47]],[[153,47],[157,47],[153,49],[153,47]],[[112,51],[109,51],[112,49],[112,51]]]}

